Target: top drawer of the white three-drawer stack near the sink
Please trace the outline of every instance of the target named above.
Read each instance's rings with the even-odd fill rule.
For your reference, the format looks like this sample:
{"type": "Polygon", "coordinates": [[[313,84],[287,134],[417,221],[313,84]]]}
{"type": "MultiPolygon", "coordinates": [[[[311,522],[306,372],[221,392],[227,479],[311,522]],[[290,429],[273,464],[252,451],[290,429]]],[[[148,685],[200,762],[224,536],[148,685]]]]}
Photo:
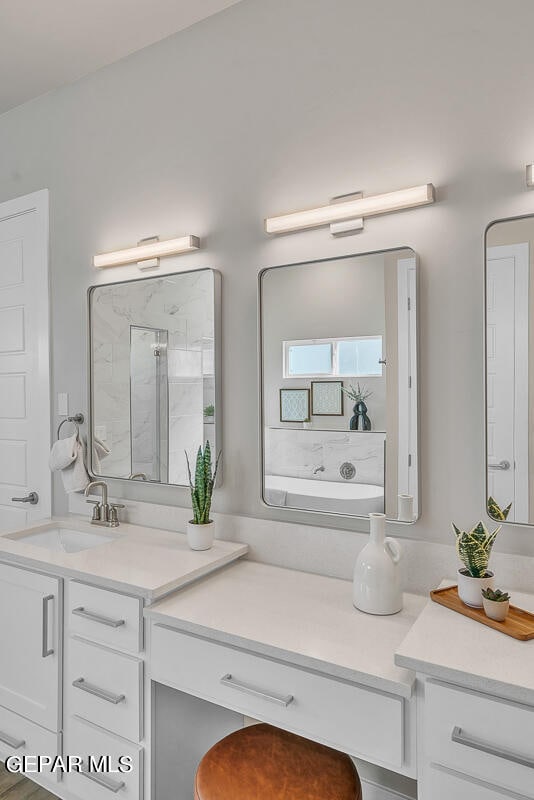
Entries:
{"type": "Polygon", "coordinates": [[[128,653],[143,649],[142,605],[137,597],[71,581],[67,625],[71,633],[128,653]]]}

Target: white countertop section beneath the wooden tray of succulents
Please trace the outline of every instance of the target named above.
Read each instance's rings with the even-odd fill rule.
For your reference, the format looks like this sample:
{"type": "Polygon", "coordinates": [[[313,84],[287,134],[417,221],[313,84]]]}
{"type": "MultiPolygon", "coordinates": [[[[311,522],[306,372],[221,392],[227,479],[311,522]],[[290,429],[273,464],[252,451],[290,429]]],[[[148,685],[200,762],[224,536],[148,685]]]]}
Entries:
{"type": "MultiPolygon", "coordinates": [[[[532,594],[513,592],[511,601],[534,612],[532,594]]],[[[512,639],[437,603],[428,603],[397,648],[395,663],[481,692],[534,704],[534,639],[512,639]]]]}

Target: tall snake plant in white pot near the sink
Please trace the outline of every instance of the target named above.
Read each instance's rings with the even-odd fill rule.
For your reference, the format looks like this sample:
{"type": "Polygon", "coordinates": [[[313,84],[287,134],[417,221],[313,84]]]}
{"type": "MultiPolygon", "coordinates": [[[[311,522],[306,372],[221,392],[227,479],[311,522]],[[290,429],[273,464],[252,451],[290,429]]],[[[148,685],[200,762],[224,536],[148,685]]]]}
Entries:
{"type": "Polygon", "coordinates": [[[191,550],[209,550],[213,546],[215,523],[210,519],[211,498],[220,457],[221,454],[219,453],[215,462],[215,469],[213,469],[210,443],[206,442],[204,450],[200,446],[197,452],[195,481],[193,483],[189,457],[187,452],[185,454],[193,506],[193,519],[187,523],[187,541],[191,550]]]}

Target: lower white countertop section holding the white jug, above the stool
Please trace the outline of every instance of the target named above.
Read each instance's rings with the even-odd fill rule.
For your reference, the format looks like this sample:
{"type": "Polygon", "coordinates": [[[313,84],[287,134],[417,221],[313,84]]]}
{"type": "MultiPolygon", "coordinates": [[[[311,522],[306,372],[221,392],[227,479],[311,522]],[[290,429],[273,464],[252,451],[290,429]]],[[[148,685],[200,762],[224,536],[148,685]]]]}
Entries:
{"type": "Polygon", "coordinates": [[[178,630],[410,697],[394,653],[426,603],[404,595],[390,617],[357,611],[352,583],[243,561],[162,600],[145,616],[178,630]]]}

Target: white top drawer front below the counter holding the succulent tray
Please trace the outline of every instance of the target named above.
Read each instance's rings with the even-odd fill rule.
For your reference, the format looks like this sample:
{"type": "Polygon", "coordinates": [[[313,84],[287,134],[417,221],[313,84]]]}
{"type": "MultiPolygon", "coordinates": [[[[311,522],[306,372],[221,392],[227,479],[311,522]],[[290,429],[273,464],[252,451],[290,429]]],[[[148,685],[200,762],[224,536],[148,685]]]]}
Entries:
{"type": "Polygon", "coordinates": [[[424,726],[430,761],[534,797],[534,708],[427,681],[424,726]]]}

